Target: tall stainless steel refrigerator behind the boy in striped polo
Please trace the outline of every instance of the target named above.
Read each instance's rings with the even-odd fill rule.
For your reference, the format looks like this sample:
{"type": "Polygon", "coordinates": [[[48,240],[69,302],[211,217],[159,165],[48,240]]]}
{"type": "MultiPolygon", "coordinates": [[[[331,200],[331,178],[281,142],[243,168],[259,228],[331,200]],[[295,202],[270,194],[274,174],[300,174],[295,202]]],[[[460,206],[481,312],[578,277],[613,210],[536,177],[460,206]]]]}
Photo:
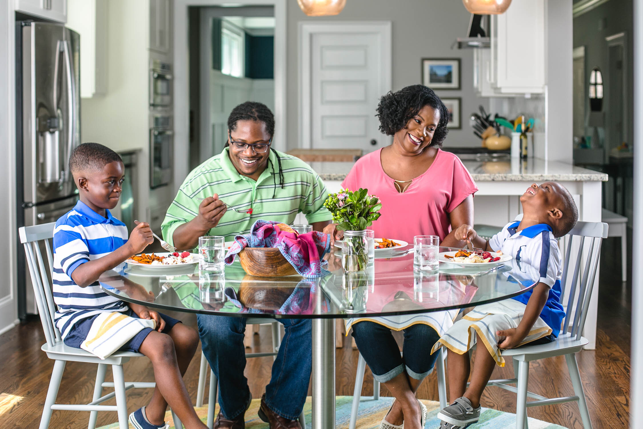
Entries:
{"type": "MultiPolygon", "coordinates": [[[[60,24],[16,23],[18,226],[56,221],[75,205],[69,155],[80,143],[80,36],[60,24]]],[[[24,249],[18,314],[37,313],[24,249]]]]}

